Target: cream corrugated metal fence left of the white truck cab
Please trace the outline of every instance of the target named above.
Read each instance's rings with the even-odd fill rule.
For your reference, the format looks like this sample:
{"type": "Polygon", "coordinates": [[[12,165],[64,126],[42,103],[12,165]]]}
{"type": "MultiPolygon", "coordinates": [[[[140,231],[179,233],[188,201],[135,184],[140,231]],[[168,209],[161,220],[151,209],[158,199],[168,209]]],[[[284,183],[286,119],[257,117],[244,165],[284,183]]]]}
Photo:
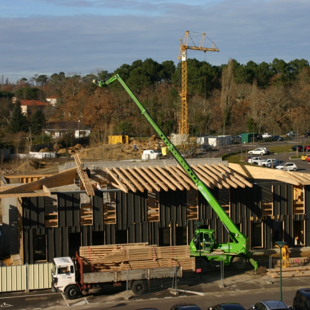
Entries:
{"type": "Polygon", "coordinates": [[[0,292],[50,288],[52,263],[0,267],[0,292]]]}

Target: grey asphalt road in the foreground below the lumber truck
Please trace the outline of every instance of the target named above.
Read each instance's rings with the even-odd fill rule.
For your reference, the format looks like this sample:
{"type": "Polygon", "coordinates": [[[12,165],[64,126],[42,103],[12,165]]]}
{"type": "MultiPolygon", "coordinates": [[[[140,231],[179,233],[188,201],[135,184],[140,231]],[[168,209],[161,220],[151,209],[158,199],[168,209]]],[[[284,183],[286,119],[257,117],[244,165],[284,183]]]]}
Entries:
{"type": "MultiPolygon", "coordinates": [[[[292,305],[296,289],[285,290],[283,294],[283,302],[288,306],[292,305]]],[[[52,294],[44,292],[32,293],[11,293],[0,295],[0,308],[11,310],[37,310],[37,309],[71,309],[71,310],[104,310],[104,309],[120,309],[120,310],[137,310],[142,308],[157,308],[158,310],[169,310],[172,305],[177,303],[195,303],[202,310],[215,306],[219,303],[234,302],[241,303],[246,309],[259,300],[279,300],[279,291],[253,291],[240,292],[234,291],[230,294],[207,294],[205,296],[195,294],[180,295],[146,295],[140,298],[113,301],[107,296],[87,296],[77,300],[66,300],[62,294],[52,294]]]]}

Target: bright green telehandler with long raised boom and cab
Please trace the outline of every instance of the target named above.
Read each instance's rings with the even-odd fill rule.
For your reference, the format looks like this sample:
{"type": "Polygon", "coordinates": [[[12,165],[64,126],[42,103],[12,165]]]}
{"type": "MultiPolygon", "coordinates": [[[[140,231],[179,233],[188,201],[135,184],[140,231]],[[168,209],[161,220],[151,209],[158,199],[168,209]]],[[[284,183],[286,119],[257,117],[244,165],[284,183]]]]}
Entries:
{"type": "MultiPolygon", "coordinates": [[[[242,268],[245,260],[247,259],[257,269],[257,262],[250,258],[248,237],[246,237],[237,226],[233,223],[232,219],[226,214],[221,205],[217,202],[207,186],[198,178],[197,174],[191,169],[184,157],[179,153],[177,148],[171,143],[168,137],[155,123],[148,111],[143,107],[138,98],[132,93],[130,88],[126,85],[124,80],[118,75],[114,75],[107,81],[94,78],[92,82],[99,87],[103,88],[118,80],[124,87],[125,91],[129,94],[132,100],[140,109],[142,115],[151,124],[158,137],[166,144],[169,151],[179,163],[179,165],[186,171],[187,175],[195,183],[197,189],[200,191],[205,200],[210,204],[213,210],[217,213],[218,218],[223,223],[231,242],[217,243],[215,237],[215,230],[200,228],[196,230],[195,236],[190,243],[191,256],[200,256],[209,260],[211,263],[222,261],[224,264],[236,263],[237,267],[242,268]]],[[[217,263],[218,264],[218,263],[217,263]]]]}

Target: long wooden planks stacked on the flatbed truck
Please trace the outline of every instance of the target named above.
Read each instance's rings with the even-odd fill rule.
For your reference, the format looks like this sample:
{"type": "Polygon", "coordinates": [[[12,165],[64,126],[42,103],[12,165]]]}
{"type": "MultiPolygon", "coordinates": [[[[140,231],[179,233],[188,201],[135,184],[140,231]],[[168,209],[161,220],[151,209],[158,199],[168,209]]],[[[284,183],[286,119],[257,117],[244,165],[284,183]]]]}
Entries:
{"type": "Polygon", "coordinates": [[[195,270],[188,246],[157,247],[146,243],[80,247],[84,272],[117,271],[159,267],[195,270]]]}

